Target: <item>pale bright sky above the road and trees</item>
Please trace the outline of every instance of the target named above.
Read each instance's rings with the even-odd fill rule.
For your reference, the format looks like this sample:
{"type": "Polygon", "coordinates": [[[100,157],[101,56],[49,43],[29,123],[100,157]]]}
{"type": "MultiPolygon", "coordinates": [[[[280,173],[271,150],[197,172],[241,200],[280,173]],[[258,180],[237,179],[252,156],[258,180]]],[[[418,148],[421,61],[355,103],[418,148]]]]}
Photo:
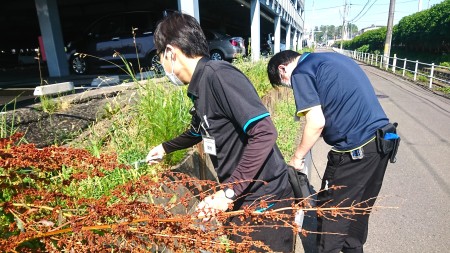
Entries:
{"type": "MultiPolygon", "coordinates": [[[[422,0],[422,10],[444,0],[422,0]]],[[[353,21],[358,29],[386,26],[389,15],[390,0],[347,0],[350,8],[346,17],[353,21]]],[[[321,25],[340,26],[343,23],[345,0],[305,0],[305,28],[321,25]]],[[[419,0],[396,0],[394,25],[404,16],[409,16],[419,9],[419,0]]]]}

